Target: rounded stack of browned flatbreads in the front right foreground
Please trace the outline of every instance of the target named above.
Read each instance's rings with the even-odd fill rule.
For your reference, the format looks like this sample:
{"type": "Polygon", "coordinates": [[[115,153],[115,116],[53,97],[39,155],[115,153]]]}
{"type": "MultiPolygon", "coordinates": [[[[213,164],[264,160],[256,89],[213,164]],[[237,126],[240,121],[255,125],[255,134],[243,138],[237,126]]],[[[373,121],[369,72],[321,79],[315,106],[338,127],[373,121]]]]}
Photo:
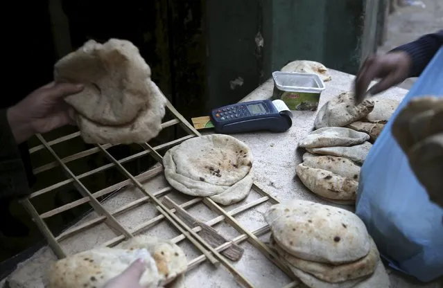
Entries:
{"type": "Polygon", "coordinates": [[[270,244],[312,288],[388,288],[390,281],[365,224],[354,213],[310,201],[272,206],[270,244]]]}

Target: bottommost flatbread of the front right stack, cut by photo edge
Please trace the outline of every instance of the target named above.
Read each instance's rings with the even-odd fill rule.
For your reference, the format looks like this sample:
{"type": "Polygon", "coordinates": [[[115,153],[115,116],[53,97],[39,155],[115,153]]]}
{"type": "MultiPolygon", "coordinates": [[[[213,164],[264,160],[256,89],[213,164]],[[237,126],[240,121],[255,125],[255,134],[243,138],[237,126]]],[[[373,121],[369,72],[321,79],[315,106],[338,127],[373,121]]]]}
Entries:
{"type": "Polygon", "coordinates": [[[306,273],[295,267],[289,267],[291,271],[301,280],[304,285],[312,288],[390,288],[390,280],[383,263],[379,259],[376,269],[367,278],[358,278],[340,283],[330,283],[316,278],[312,274],[306,273]]]}

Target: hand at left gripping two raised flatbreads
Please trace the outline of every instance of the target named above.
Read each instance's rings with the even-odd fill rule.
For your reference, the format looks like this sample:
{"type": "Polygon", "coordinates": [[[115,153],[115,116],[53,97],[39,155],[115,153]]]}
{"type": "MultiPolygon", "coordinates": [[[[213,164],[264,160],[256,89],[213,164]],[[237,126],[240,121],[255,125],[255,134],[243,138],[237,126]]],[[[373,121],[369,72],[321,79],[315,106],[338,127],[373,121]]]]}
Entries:
{"type": "Polygon", "coordinates": [[[10,107],[7,116],[15,141],[21,143],[36,133],[46,133],[72,123],[72,108],[64,102],[64,97],[82,89],[81,84],[51,82],[10,107]]]}

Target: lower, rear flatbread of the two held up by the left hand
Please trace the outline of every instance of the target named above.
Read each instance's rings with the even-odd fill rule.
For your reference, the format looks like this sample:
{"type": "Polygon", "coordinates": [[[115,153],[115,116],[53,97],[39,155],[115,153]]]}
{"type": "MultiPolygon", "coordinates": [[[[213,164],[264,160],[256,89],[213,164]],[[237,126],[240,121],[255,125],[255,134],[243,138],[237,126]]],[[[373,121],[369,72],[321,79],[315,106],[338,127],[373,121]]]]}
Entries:
{"type": "Polygon", "coordinates": [[[146,143],[162,130],[162,118],[165,114],[166,98],[157,85],[148,80],[150,87],[150,109],[140,111],[132,123],[119,126],[99,125],[76,115],[76,122],[85,143],[131,144],[146,143]]]}

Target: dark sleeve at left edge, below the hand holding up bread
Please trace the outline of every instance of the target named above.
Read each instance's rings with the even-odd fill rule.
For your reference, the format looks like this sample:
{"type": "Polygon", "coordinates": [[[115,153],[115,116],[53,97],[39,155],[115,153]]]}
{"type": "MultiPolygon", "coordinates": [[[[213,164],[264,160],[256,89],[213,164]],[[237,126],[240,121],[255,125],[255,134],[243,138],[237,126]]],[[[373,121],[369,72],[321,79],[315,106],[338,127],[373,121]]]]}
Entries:
{"type": "Polygon", "coordinates": [[[20,197],[30,192],[24,164],[7,114],[6,110],[0,110],[0,198],[20,197]]]}

